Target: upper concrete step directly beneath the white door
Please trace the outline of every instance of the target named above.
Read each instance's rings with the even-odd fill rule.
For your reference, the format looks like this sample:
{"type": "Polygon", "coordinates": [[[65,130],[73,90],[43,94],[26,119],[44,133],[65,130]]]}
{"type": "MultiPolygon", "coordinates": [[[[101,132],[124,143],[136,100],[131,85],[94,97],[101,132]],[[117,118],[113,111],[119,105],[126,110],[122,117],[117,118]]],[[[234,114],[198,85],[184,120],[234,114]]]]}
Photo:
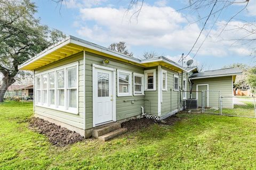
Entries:
{"type": "Polygon", "coordinates": [[[115,131],[121,128],[121,123],[111,123],[107,126],[103,126],[102,128],[95,129],[92,131],[92,136],[98,139],[100,136],[107,134],[109,132],[115,131]]]}

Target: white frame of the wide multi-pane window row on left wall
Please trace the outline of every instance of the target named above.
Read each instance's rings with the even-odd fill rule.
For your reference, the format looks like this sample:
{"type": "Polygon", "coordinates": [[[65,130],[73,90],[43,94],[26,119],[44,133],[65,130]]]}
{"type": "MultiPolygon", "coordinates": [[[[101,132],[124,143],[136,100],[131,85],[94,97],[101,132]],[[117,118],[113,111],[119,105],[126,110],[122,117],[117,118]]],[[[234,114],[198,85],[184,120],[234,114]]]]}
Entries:
{"type": "Polygon", "coordinates": [[[67,113],[72,113],[72,114],[78,114],[78,103],[79,103],[79,63],[75,62],[75,63],[70,63],[70,64],[66,64],[60,67],[56,67],[54,69],[50,69],[47,71],[43,71],[40,73],[36,73],[35,77],[41,77],[41,103],[36,103],[35,106],[40,106],[40,107],[45,107],[45,108],[50,108],[50,109],[55,109],[57,111],[62,111],[62,112],[67,112],[67,113]],[[77,84],[76,87],[74,89],[77,89],[77,97],[76,97],[76,108],[71,108],[68,107],[68,94],[67,94],[67,83],[68,83],[68,79],[67,79],[67,69],[70,69],[72,67],[76,67],[77,69],[77,84]],[[64,88],[58,88],[57,84],[58,84],[58,80],[57,80],[57,72],[64,70],[64,88]],[[55,80],[54,80],[54,94],[55,94],[55,101],[54,101],[54,105],[50,105],[50,99],[49,99],[49,73],[55,73],[55,80]],[[47,105],[43,105],[42,104],[42,75],[47,74],[47,105]],[[57,91],[58,89],[64,89],[64,106],[58,107],[58,95],[57,95],[57,91]]]}

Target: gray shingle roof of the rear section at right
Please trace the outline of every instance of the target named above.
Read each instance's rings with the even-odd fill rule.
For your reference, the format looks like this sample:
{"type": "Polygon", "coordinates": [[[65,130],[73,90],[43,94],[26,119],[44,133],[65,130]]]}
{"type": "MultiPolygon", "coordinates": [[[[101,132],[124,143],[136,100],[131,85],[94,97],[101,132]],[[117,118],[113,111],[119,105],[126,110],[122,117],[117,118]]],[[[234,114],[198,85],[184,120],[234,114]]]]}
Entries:
{"type": "Polygon", "coordinates": [[[243,72],[238,68],[227,68],[227,69],[210,70],[210,71],[194,73],[191,75],[191,78],[202,79],[202,78],[208,78],[208,77],[223,77],[223,76],[237,75],[242,73],[243,72]]]}

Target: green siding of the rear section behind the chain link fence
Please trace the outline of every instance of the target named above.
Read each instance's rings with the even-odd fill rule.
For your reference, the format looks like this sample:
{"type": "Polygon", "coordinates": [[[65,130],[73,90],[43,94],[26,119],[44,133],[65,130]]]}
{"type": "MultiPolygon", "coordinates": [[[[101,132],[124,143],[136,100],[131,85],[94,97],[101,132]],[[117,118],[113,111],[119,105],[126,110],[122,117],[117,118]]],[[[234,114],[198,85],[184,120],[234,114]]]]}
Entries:
{"type": "MultiPolygon", "coordinates": [[[[209,90],[220,90],[221,96],[233,96],[232,77],[218,77],[218,78],[206,78],[206,79],[195,79],[193,80],[193,91],[196,90],[197,84],[209,84],[209,90]]],[[[193,95],[196,97],[196,94],[193,95]]],[[[208,107],[219,107],[219,93],[217,91],[210,91],[209,95],[209,106],[208,107]]],[[[223,98],[222,106],[224,108],[232,108],[232,98],[223,98]]]]}

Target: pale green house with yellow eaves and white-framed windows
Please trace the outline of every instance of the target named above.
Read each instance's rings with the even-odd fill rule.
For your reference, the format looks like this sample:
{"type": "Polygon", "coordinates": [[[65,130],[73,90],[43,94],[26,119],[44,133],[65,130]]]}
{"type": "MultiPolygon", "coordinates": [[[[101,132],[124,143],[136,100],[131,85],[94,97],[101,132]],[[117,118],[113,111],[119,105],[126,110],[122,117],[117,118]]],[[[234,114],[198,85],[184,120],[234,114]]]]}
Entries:
{"type": "MultiPolygon", "coordinates": [[[[197,67],[186,69],[165,57],[141,61],[73,36],[19,69],[35,73],[35,116],[85,137],[95,127],[142,113],[159,119],[177,113],[182,108],[179,90],[189,90],[190,75],[198,73],[197,67]]],[[[219,82],[229,82],[222,88],[232,96],[234,76],[216,76],[219,82]]],[[[198,80],[211,88],[208,77],[198,80]]]]}

